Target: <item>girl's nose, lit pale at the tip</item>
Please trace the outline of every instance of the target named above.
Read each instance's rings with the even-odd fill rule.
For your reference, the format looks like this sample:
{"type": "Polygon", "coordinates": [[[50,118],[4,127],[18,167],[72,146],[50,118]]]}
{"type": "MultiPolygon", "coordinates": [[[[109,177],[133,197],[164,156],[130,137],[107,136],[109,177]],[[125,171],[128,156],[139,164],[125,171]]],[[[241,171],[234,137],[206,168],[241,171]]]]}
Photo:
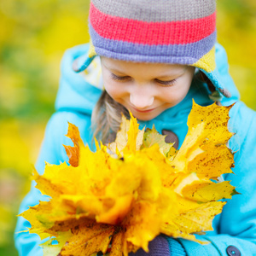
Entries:
{"type": "Polygon", "coordinates": [[[145,90],[137,90],[130,94],[130,102],[135,108],[147,109],[153,105],[154,96],[152,96],[145,90]]]}

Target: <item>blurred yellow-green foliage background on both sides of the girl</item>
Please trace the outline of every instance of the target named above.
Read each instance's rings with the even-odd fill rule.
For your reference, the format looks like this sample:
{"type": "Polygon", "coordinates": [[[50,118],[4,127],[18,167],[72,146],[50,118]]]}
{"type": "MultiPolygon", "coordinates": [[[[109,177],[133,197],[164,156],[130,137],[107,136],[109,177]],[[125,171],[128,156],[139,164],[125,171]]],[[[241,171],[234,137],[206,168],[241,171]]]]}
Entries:
{"type": "MultiPolygon", "coordinates": [[[[0,3],[0,255],[15,256],[20,201],[54,112],[65,49],[89,41],[89,0],[0,3]]],[[[218,42],[241,100],[256,110],[256,1],[218,1],[218,42]]]]}

